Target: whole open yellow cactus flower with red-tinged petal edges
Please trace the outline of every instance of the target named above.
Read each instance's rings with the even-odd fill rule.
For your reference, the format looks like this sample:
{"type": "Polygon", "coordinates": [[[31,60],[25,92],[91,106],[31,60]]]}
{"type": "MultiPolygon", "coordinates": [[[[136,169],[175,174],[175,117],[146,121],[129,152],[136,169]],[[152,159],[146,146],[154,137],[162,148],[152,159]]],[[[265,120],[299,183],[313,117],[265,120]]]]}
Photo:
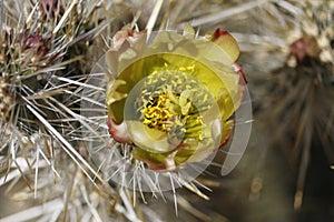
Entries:
{"type": "Polygon", "coordinates": [[[187,27],[148,38],[126,28],[115,46],[106,56],[108,127],[117,142],[132,145],[135,160],[175,170],[227,142],[244,90],[228,32],[195,37],[187,27]]]}

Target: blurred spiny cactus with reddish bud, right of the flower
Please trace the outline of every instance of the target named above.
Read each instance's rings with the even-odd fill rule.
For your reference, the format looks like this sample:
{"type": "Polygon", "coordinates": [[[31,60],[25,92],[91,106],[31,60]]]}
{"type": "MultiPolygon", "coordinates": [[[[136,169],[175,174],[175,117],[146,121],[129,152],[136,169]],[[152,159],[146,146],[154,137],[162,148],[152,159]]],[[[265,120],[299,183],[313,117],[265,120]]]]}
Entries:
{"type": "MultiPolygon", "coordinates": [[[[268,148],[282,149],[289,163],[296,181],[294,208],[299,210],[311,163],[326,165],[330,171],[334,161],[333,2],[281,3],[282,8],[271,10],[275,17],[265,19],[265,29],[278,33],[278,39],[273,44],[265,40],[255,43],[267,49],[264,54],[269,62],[254,61],[257,74],[250,81],[255,82],[257,93],[263,92],[257,98],[256,118],[264,122],[268,148]],[[278,19],[281,27],[276,27],[278,22],[273,18],[278,19]],[[326,159],[318,163],[312,153],[317,157],[322,152],[326,159]]],[[[254,186],[262,188],[263,180],[256,176],[254,186]]],[[[256,192],[258,196],[259,191],[256,192]]]]}

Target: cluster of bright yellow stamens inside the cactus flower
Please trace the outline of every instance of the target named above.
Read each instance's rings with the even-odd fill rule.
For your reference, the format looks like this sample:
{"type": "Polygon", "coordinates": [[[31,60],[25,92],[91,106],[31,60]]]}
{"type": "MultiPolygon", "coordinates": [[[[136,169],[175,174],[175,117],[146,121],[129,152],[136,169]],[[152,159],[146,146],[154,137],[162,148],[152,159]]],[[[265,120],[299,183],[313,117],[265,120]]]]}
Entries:
{"type": "Polygon", "coordinates": [[[170,141],[175,138],[203,140],[204,122],[199,110],[210,107],[207,98],[206,90],[187,73],[157,71],[146,79],[137,111],[145,125],[167,132],[170,141]]]}

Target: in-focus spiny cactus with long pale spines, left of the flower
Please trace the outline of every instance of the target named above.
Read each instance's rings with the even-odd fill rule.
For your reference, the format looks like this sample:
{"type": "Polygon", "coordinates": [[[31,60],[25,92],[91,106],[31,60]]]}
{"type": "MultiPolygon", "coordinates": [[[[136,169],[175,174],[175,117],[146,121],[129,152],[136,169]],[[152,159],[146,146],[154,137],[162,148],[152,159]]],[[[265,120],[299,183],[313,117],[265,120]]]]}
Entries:
{"type": "MultiPolygon", "coordinates": [[[[92,205],[104,201],[112,204],[114,211],[122,211],[129,220],[137,219],[131,208],[127,213],[121,204],[111,203],[116,191],[106,185],[84,158],[81,144],[72,142],[80,137],[76,111],[84,84],[80,75],[90,67],[82,65],[76,74],[71,72],[85,64],[82,58],[89,57],[91,37],[110,22],[108,13],[101,17],[102,9],[99,2],[86,1],[4,1],[1,4],[4,16],[1,14],[0,37],[0,185],[4,189],[9,184],[6,193],[11,194],[11,201],[35,199],[36,204],[48,202],[47,205],[55,206],[47,211],[31,208],[13,212],[3,220],[23,220],[20,216],[23,214],[26,220],[72,221],[95,214],[92,218],[99,221],[92,205]],[[71,174],[77,176],[65,180],[71,174]],[[100,182],[94,181],[91,174],[100,182]],[[20,179],[27,189],[13,192],[20,179]],[[89,184],[82,186],[86,182],[89,184]],[[77,186],[77,183],[81,184],[77,186]],[[80,189],[72,192],[77,188],[80,189]],[[85,188],[90,189],[89,194],[85,188]],[[67,213],[68,209],[85,210],[75,203],[78,200],[88,204],[88,214],[73,214],[76,210],[67,213]]],[[[128,201],[120,193],[120,200],[128,201]]],[[[1,212],[1,216],[3,213],[7,212],[1,212]]]]}

